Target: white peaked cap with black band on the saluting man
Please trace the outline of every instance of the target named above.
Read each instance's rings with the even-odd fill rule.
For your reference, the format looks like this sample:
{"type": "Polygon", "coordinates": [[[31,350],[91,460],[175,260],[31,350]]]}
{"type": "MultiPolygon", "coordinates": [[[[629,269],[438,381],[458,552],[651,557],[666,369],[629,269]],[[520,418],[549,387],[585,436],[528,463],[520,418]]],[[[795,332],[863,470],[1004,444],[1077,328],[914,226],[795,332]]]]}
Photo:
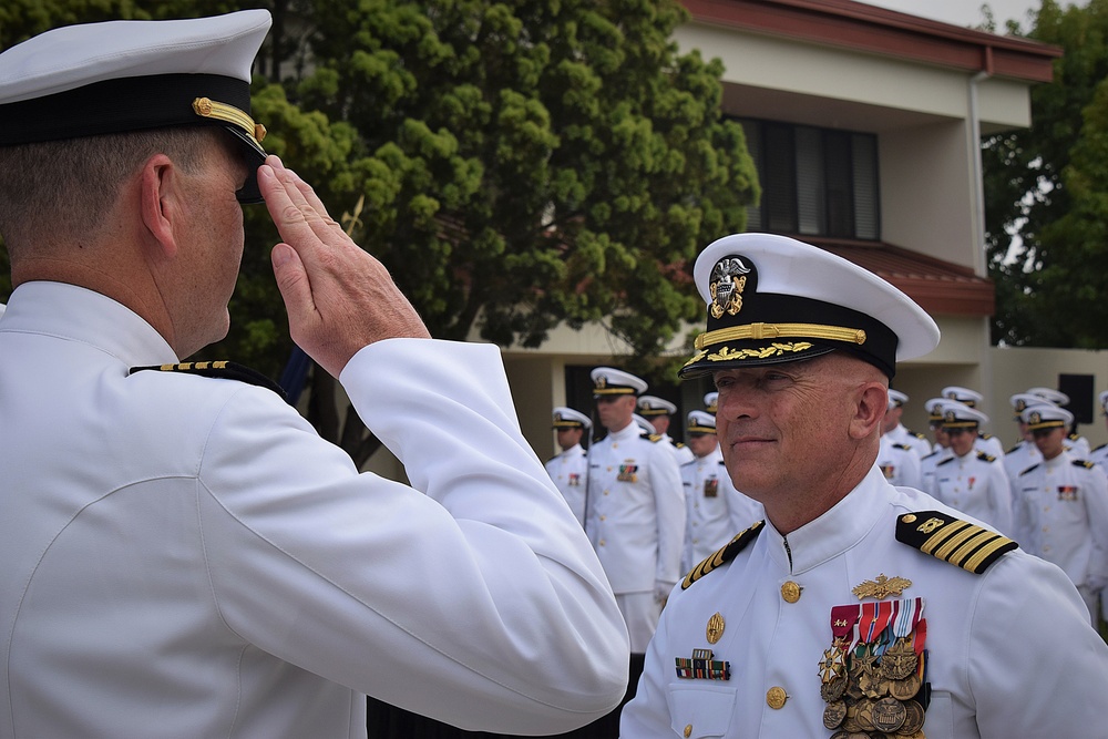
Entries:
{"type": "MultiPolygon", "coordinates": [[[[250,65],[268,10],[57,28],[0,54],[0,146],[164,126],[222,126],[260,165],[250,65]]],[[[255,167],[238,193],[260,202],[255,167]]]]}

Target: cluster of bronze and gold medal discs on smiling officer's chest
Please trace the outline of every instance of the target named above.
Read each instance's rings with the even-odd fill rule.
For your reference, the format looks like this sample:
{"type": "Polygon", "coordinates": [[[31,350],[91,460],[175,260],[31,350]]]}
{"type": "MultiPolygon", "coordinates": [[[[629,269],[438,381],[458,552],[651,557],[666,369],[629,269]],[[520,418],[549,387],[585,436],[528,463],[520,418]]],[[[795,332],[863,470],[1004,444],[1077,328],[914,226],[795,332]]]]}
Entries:
{"type": "MultiPolygon", "coordinates": [[[[926,654],[926,653],[924,653],[926,654]]],[[[841,645],[823,653],[820,695],[827,702],[823,726],[831,739],[924,739],[923,660],[904,637],[876,656],[873,645],[848,654],[841,645]]]]}

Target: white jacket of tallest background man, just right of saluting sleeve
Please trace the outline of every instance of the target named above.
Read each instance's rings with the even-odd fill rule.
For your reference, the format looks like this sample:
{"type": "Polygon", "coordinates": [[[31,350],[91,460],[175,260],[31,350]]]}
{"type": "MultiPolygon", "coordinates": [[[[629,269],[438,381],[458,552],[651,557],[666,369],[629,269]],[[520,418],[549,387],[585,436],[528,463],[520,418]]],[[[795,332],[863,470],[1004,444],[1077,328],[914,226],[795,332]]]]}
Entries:
{"type": "Polygon", "coordinates": [[[680,579],[685,495],[669,444],[628,423],[588,448],[585,531],[616,594],[680,579]]]}

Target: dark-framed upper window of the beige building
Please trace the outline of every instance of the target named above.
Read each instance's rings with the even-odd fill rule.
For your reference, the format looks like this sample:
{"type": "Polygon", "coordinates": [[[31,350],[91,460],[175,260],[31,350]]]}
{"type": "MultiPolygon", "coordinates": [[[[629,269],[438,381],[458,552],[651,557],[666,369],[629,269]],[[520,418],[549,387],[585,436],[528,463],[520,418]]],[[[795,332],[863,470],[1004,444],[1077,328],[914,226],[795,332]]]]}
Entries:
{"type": "Polygon", "coordinates": [[[737,120],[762,186],[761,203],[747,212],[748,230],[881,238],[875,135],[737,120]]]}

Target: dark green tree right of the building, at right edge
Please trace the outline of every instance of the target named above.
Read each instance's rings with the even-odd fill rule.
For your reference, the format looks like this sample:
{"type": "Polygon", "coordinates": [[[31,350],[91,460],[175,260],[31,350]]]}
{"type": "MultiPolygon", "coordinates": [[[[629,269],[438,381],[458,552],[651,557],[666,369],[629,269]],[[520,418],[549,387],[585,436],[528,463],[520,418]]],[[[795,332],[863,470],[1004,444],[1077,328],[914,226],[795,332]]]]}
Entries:
{"type": "MultiPolygon", "coordinates": [[[[1010,32],[1019,32],[1009,22],[1010,32]]],[[[1029,38],[1058,45],[1054,81],[1032,89],[1032,126],[984,142],[989,271],[997,287],[994,342],[1108,346],[1098,239],[1108,192],[1102,81],[1108,1],[1061,9],[1044,0],[1029,38]]]]}

